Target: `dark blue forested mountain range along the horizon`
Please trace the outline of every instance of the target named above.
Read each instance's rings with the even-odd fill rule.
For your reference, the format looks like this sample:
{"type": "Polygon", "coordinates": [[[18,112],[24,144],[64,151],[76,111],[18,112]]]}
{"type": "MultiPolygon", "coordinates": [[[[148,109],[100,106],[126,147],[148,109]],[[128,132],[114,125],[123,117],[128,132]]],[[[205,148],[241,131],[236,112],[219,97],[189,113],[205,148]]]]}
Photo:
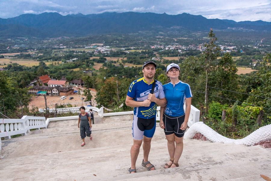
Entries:
{"type": "Polygon", "coordinates": [[[271,22],[207,19],[187,13],[168,15],[155,13],[58,13],[22,14],[18,17],[0,18],[2,37],[59,37],[90,36],[106,33],[135,33],[139,31],[245,31],[271,32],[271,22]]]}

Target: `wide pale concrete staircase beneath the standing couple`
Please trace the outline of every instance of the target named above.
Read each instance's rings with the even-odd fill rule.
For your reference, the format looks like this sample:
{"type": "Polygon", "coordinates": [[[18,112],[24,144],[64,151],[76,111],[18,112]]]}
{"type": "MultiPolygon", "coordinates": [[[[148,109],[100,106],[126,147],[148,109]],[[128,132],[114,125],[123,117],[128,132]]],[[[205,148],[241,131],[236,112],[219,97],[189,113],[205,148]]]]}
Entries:
{"type": "Polygon", "coordinates": [[[132,145],[131,117],[98,121],[92,141],[81,147],[77,120],[51,122],[48,129],[2,141],[0,180],[236,180],[264,181],[271,178],[271,148],[184,140],[179,167],[164,169],[169,160],[167,140],[157,124],[149,161],[156,170],[142,167],[141,148],[136,169],[129,174],[132,145]],[[99,123],[100,122],[100,123],[99,123]]]}

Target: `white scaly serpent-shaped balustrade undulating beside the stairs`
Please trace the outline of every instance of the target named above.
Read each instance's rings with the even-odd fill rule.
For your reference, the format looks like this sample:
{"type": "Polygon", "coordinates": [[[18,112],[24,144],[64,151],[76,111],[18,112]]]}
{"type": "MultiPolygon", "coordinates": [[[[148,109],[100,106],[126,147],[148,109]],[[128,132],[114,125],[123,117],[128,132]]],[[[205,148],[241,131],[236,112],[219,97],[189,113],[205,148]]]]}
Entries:
{"type": "Polygon", "coordinates": [[[253,146],[256,143],[265,139],[271,139],[271,124],[260,127],[250,135],[242,139],[230,139],[216,133],[212,128],[203,122],[194,123],[184,135],[184,139],[192,139],[196,133],[201,133],[211,142],[234,143],[236,145],[244,144],[253,146]]]}

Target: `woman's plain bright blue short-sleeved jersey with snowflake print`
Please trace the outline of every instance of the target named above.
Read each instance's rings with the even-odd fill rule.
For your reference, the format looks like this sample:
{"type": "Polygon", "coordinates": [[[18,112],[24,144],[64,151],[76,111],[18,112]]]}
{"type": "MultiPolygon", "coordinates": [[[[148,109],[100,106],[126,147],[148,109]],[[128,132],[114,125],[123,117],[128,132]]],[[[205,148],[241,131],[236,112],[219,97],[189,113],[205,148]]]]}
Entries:
{"type": "Polygon", "coordinates": [[[183,110],[185,98],[192,97],[190,86],[179,80],[175,86],[170,82],[163,87],[167,99],[167,107],[165,108],[164,113],[173,117],[185,114],[183,110]]]}

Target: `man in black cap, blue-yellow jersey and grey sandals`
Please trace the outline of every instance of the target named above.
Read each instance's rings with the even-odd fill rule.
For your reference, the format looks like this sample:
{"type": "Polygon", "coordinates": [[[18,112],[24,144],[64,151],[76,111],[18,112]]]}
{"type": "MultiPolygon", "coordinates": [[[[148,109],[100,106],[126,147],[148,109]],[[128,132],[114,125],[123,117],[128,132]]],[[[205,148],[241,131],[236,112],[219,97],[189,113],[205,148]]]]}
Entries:
{"type": "Polygon", "coordinates": [[[151,149],[151,139],[156,127],[156,108],[166,106],[163,85],[154,80],[156,64],[153,61],[145,61],[142,67],[143,77],[133,81],[129,87],[125,104],[134,107],[134,118],[132,125],[133,145],[131,148],[131,168],[130,173],[136,173],[136,160],[139,148],[143,141],[142,166],[149,171],[155,170],[148,161],[151,149]],[[154,89],[152,88],[154,84],[154,89]],[[153,89],[153,94],[151,91],[153,89]]]}

